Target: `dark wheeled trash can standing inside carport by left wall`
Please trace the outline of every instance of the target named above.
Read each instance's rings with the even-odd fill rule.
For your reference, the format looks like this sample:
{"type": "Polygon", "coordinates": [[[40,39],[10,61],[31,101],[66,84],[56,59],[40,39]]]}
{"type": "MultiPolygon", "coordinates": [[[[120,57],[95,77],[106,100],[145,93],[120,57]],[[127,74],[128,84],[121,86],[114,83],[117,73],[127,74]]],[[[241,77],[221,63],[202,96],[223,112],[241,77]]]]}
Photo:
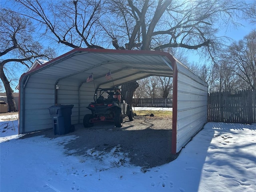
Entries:
{"type": "Polygon", "coordinates": [[[74,105],[57,105],[48,108],[52,117],[55,135],[64,135],[74,131],[74,126],[71,125],[73,107],[74,105]]]}

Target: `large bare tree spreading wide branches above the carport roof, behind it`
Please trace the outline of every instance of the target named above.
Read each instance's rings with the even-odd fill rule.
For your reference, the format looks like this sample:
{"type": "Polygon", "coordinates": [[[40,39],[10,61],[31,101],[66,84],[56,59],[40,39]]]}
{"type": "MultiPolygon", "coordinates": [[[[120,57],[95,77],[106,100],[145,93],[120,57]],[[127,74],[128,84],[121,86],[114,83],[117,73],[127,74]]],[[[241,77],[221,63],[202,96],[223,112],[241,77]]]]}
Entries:
{"type": "MultiPolygon", "coordinates": [[[[15,1],[46,33],[72,48],[103,48],[110,42],[127,50],[180,47],[200,50],[213,60],[223,42],[216,36],[219,29],[239,26],[236,21],[251,6],[244,0],[15,1]]],[[[133,93],[128,92],[137,87],[136,82],[122,86],[126,100],[132,101],[133,93]]]]}

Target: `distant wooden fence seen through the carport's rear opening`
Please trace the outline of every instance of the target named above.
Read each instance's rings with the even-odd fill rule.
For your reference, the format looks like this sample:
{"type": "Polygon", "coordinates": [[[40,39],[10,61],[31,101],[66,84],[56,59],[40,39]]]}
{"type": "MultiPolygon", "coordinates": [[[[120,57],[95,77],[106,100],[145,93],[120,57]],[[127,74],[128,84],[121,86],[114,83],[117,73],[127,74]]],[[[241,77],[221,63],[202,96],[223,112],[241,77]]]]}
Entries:
{"type": "Polygon", "coordinates": [[[172,107],[170,98],[133,98],[132,106],[134,107],[172,107]]]}

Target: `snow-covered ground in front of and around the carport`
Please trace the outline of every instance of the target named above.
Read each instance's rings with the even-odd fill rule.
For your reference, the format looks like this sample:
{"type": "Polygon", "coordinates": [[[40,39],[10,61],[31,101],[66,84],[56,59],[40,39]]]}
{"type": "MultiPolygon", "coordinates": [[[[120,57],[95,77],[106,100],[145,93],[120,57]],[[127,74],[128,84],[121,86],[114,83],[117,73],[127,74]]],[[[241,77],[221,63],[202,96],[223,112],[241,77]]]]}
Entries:
{"type": "Polygon", "coordinates": [[[75,136],[19,139],[18,121],[4,119],[1,192],[256,191],[256,124],[207,123],[176,160],[144,173],[122,163],[121,146],[108,153],[88,150],[89,157],[66,156],[63,143],[75,136]]]}

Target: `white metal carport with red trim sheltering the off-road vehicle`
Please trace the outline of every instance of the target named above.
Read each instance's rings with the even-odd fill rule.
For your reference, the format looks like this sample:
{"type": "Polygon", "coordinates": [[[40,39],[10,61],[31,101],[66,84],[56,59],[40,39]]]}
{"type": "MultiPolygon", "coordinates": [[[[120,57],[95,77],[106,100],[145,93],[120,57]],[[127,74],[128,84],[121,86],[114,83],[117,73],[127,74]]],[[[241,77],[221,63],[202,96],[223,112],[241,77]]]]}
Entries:
{"type": "Polygon", "coordinates": [[[82,122],[94,84],[108,88],[146,78],[173,77],[172,153],[206,123],[207,84],[172,55],[161,51],[76,48],[20,78],[19,134],[52,128],[48,108],[74,104],[72,124],[82,122]],[[112,80],[106,80],[111,71],[112,80]],[[93,74],[94,83],[86,83],[93,74]]]}

